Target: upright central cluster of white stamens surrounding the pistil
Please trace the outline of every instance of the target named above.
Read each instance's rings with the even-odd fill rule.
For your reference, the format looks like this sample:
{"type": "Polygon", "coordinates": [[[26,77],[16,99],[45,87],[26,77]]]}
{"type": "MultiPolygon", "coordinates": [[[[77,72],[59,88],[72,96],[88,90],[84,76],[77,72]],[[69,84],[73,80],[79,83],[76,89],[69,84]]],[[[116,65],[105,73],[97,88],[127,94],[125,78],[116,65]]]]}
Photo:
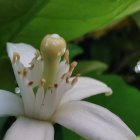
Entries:
{"type": "MultiPolygon", "coordinates": [[[[16,91],[20,93],[23,98],[25,114],[33,117],[35,112],[38,112],[40,114],[35,116],[46,120],[51,117],[64,94],[77,83],[79,74],[75,77],[71,77],[77,62],[73,61],[71,64],[69,63],[69,50],[66,50],[62,39],[56,35],[47,35],[47,39],[45,38],[45,40],[46,42],[43,40],[43,46],[40,47],[40,52],[35,50],[34,56],[29,55],[31,59],[30,63],[28,61],[27,64],[22,64],[23,61],[26,62],[26,60],[22,59],[26,58],[23,58],[22,54],[14,52],[12,65],[19,86],[18,90],[16,88],[16,91]],[[49,42],[48,38],[53,38],[53,42],[49,42]],[[57,39],[57,43],[55,39],[57,39]],[[58,39],[61,40],[60,43],[63,46],[59,44],[58,39]],[[60,49],[50,49],[56,46],[60,49]],[[64,60],[61,61],[62,56],[64,60]],[[26,96],[26,93],[29,95],[26,96]],[[38,94],[42,94],[42,96],[38,94]],[[27,98],[29,98],[28,102],[27,98]],[[47,115],[43,115],[44,113],[41,112],[46,112],[44,110],[48,108],[47,104],[50,104],[49,100],[53,104],[51,113],[49,112],[46,113],[47,115]]],[[[28,56],[28,54],[26,55],[28,56]]]]}

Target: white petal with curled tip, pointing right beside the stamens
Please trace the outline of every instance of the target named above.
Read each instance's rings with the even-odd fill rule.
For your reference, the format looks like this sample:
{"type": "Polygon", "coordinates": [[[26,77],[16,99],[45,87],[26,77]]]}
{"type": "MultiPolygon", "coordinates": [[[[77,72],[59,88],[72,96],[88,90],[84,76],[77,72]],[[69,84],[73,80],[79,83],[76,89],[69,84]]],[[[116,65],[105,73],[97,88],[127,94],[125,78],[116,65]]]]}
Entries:
{"type": "Polygon", "coordinates": [[[88,77],[79,77],[78,82],[74,85],[74,87],[71,90],[68,90],[64,95],[61,100],[61,104],[71,100],[82,100],[100,93],[110,95],[112,90],[98,80],[88,77]]]}

